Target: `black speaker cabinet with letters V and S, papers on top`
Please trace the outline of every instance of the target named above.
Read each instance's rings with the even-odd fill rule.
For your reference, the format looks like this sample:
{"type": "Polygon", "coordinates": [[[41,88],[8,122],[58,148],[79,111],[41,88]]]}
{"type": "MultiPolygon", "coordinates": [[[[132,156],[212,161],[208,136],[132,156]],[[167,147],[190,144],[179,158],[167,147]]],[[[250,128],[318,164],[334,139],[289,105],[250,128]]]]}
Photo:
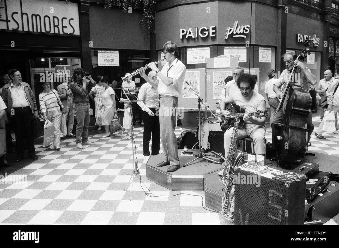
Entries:
{"type": "Polygon", "coordinates": [[[304,224],[305,175],[277,171],[267,178],[238,169],[235,176],[236,225],[304,224]]]}

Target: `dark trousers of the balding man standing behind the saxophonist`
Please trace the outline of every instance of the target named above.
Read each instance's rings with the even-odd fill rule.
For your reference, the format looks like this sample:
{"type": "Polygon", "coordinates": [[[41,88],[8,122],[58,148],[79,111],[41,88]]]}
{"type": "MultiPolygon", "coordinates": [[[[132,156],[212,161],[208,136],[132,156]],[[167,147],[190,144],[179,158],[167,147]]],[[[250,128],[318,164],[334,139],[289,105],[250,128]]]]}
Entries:
{"type": "MultiPolygon", "coordinates": [[[[149,108],[156,113],[155,108],[149,108]]],[[[152,155],[159,154],[160,150],[160,124],[159,115],[149,116],[147,112],[142,111],[144,120],[144,136],[142,138],[142,147],[144,156],[149,156],[149,141],[152,134],[152,155]]]]}

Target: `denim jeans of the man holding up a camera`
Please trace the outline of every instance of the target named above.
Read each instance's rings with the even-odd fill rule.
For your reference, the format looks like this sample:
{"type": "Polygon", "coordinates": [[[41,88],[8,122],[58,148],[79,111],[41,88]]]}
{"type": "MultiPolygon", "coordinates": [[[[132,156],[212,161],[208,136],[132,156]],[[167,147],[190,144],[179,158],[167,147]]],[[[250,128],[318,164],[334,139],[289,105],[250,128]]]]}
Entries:
{"type": "Polygon", "coordinates": [[[75,107],[77,115],[76,143],[87,142],[89,126],[89,102],[78,102],[75,107]]]}

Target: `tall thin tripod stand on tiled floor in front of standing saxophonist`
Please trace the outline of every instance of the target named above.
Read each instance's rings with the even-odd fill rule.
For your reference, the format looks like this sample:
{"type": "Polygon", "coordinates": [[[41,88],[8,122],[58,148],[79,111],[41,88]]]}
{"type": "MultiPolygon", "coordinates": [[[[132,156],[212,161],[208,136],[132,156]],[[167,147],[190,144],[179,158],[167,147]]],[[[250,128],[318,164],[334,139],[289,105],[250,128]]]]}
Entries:
{"type": "MultiPolygon", "coordinates": [[[[139,169],[138,169],[138,164],[137,164],[137,162],[134,161],[134,156],[136,156],[135,151],[136,151],[137,149],[136,149],[135,141],[134,141],[133,115],[132,115],[132,102],[137,102],[137,101],[132,101],[132,100],[131,100],[131,91],[129,91],[128,87],[126,87],[126,88],[127,88],[127,90],[128,90],[128,96],[127,96],[127,94],[125,93],[125,96],[127,97],[127,99],[123,99],[123,100],[125,100],[125,101],[122,100],[122,102],[129,102],[129,106],[131,106],[131,111],[130,111],[130,113],[129,113],[129,118],[130,118],[130,121],[131,121],[131,123],[132,123],[132,126],[131,126],[131,127],[132,127],[132,130],[131,130],[131,132],[132,132],[132,138],[131,138],[131,141],[132,141],[132,154],[133,154],[133,169],[132,169],[131,178],[129,178],[128,183],[127,183],[127,185],[126,185],[124,191],[127,190],[128,186],[130,185],[130,182],[131,182],[131,180],[132,180],[131,198],[129,199],[129,201],[132,201],[133,183],[134,183],[134,177],[135,177],[135,176],[138,176],[138,177],[139,177],[140,183],[142,183],[142,184],[145,186],[145,188],[147,189],[147,192],[149,191],[149,189],[148,189],[147,186],[141,181],[141,175],[140,175],[140,171],[139,171],[139,169]],[[135,150],[134,150],[134,149],[135,149],[135,150]]],[[[124,88],[122,88],[122,90],[123,90],[123,89],[124,89],[124,88]]],[[[133,94],[132,94],[132,95],[133,95],[133,94]]],[[[133,95],[133,96],[134,96],[134,95],[133,95]]],[[[121,99],[122,99],[122,98],[121,98],[121,99]]]]}

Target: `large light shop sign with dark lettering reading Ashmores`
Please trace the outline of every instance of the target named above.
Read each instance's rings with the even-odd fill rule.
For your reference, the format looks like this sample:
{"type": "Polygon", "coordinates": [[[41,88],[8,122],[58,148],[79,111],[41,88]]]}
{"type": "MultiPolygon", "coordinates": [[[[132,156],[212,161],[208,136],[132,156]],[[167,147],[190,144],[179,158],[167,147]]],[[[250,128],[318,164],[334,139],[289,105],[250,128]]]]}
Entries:
{"type": "Polygon", "coordinates": [[[53,0],[3,0],[0,29],[80,35],[78,5],[53,0]]]}

